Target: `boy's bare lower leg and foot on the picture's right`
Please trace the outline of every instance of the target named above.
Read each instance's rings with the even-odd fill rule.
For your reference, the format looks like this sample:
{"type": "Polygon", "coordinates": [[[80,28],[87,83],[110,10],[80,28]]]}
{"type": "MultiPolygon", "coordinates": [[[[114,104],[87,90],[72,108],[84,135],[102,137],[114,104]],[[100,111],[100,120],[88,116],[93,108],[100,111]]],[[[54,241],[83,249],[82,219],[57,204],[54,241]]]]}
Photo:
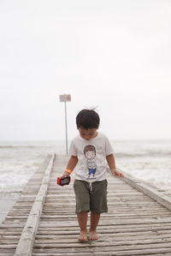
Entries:
{"type": "Polygon", "coordinates": [[[89,240],[97,240],[98,235],[96,232],[97,224],[100,219],[100,213],[91,212],[91,227],[89,229],[89,240]]]}

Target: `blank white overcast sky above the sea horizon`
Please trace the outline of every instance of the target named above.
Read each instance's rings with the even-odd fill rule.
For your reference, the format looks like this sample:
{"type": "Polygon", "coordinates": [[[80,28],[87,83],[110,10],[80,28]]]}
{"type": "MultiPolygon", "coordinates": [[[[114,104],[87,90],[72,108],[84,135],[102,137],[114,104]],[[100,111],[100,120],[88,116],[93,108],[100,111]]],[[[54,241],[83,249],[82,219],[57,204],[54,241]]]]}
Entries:
{"type": "Polygon", "coordinates": [[[0,140],[65,139],[97,106],[114,140],[171,139],[170,0],[1,0],[0,140]]]}

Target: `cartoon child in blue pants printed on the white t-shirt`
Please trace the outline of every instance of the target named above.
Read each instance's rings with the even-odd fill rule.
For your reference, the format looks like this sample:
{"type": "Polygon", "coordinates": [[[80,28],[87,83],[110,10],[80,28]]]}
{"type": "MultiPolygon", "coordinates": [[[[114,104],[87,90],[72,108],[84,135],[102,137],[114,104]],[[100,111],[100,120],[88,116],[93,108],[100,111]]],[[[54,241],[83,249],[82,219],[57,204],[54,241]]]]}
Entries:
{"type": "Polygon", "coordinates": [[[92,145],[87,145],[84,148],[84,154],[86,158],[86,164],[87,164],[87,169],[88,169],[88,178],[90,179],[91,177],[95,178],[95,173],[97,170],[97,164],[96,164],[96,148],[95,146],[92,145]]]}

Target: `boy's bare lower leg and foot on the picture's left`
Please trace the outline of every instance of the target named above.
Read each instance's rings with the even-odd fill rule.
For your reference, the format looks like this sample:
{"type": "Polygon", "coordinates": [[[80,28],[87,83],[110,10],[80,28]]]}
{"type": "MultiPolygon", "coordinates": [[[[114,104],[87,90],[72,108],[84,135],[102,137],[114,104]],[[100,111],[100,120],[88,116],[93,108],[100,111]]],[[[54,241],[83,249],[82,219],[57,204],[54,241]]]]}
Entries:
{"type": "Polygon", "coordinates": [[[82,211],[80,213],[77,213],[78,222],[80,225],[80,236],[78,238],[79,241],[86,241],[87,240],[87,211],[82,211]]]}

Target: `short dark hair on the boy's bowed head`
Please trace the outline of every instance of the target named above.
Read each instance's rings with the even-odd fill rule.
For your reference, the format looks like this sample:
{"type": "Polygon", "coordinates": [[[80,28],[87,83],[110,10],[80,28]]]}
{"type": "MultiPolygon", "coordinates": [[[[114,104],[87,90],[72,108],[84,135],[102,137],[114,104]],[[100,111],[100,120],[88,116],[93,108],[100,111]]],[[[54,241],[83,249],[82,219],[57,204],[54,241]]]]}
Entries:
{"type": "Polygon", "coordinates": [[[81,110],[76,116],[77,128],[98,128],[100,118],[95,110],[81,110]]]}

